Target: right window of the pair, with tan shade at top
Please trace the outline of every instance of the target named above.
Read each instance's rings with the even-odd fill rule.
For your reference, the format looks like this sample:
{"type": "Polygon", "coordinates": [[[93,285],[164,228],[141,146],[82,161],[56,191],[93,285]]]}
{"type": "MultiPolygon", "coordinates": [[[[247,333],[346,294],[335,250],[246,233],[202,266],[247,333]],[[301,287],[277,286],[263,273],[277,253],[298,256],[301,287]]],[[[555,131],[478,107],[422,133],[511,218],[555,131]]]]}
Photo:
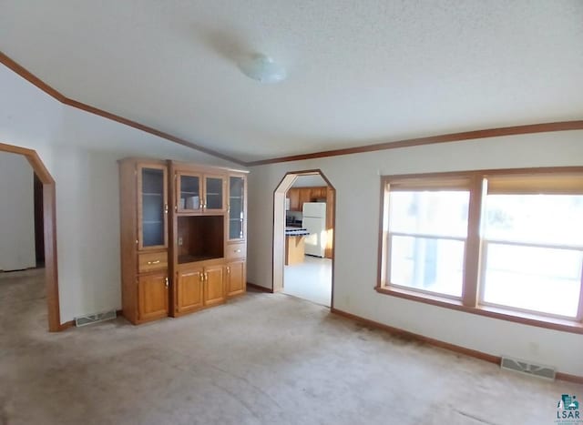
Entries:
{"type": "Polygon", "coordinates": [[[583,264],[583,192],[540,177],[486,178],[484,305],[577,318],[583,264]],[[562,193],[557,193],[562,192],[562,193]],[[572,192],[572,193],[569,193],[572,192]]]}

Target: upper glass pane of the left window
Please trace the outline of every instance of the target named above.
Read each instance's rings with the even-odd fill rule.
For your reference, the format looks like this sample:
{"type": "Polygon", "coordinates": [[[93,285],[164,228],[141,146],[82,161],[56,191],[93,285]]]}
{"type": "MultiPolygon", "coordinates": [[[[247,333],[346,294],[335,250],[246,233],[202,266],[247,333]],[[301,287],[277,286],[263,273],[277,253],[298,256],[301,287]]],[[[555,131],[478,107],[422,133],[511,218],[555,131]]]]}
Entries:
{"type": "Polygon", "coordinates": [[[389,229],[465,238],[469,198],[469,192],[461,190],[391,192],[389,229]]]}

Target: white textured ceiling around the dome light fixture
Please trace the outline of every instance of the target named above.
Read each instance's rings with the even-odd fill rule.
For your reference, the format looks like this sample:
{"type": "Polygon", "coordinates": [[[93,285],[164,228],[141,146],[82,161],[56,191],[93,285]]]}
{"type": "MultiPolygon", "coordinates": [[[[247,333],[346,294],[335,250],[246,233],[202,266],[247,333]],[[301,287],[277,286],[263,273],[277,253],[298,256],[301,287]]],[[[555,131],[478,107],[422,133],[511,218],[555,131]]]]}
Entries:
{"type": "Polygon", "coordinates": [[[581,119],[580,0],[0,0],[65,96],[242,160],[581,119]],[[236,58],[274,57],[279,85],[236,58]]]}

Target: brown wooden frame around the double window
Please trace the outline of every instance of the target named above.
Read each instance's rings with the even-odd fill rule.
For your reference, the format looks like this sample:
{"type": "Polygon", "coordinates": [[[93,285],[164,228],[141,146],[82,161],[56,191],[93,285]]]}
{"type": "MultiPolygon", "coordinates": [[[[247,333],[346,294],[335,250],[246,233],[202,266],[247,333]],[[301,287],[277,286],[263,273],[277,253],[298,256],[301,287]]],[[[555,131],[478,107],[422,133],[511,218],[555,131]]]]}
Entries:
{"type": "MultiPolygon", "coordinates": [[[[459,172],[425,173],[381,176],[380,190],[380,217],[379,217],[379,244],[377,283],[374,289],[381,294],[401,299],[423,302],[426,304],[465,311],[481,316],[505,319],[547,329],[557,329],[583,334],[583,271],[579,290],[578,313],[575,319],[544,312],[519,309],[508,306],[498,306],[483,301],[485,273],[480,273],[482,253],[486,238],[481,237],[482,213],[484,200],[487,196],[485,178],[488,177],[533,177],[537,175],[557,176],[559,174],[576,174],[583,176],[583,167],[537,167],[537,168],[505,168],[483,169],[459,172]],[[464,273],[462,281],[461,299],[446,294],[439,294],[423,289],[408,288],[388,282],[388,262],[390,241],[388,228],[389,193],[390,185],[398,182],[400,187],[407,187],[411,182],[411,190],[423,190],[425,187],[439,188],[439,180],[466,178],[469,182],[469,206],[467,235],[465,238],[464,273]]],[[[544,177],[544,176],[541,176],[544,177]]],[[[443,187],[447,190],[447,187],[443,187]]],[[[403,188],[401,188],[403,190],[403,188]]],[[[397,232],[399,233],[399,232],[397,232]]],[[[488,239],[489,242],[492,242],[488,239]]],[[[507,241],[511,243],[511,241],[507,241]]],[[[505,242],[506,243],[506,242],[505,242]]],[[[534,244],[536,245],[536,244],[534,244]]],[[[566,245],[567,247],[567,245],[566,245]]]]}

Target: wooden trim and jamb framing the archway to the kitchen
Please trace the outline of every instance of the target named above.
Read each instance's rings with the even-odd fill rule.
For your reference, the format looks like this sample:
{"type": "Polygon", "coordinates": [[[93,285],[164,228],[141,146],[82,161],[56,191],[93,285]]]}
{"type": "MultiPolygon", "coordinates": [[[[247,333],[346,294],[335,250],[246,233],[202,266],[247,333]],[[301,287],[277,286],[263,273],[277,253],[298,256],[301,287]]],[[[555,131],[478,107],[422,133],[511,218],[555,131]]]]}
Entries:
{"type": "Polygon", "coordinates": [[[332,190],[334,192],[333,196],[333,211],[332,211],[332,293],[330,296],[330,309],[334,309],[334,264],[336,261],[336,188],[332,185],[328,177],[324,175],[322,169],[314,168],[314,169],[305,169],[299,171],[288,171],[285,173],[283,177],[281,177],[280,182],[273,190],[273,222],[271,229],[273,231],[272,238],[271,238],[271,292],[279,292],[281,288],[283,288],[283,265],[284,261],[284,250],[285,250],[285,233],[281,232],[279,229],[278,223],[278,213],[283,216],[283,226],[285,227],[285,201],[283,203],[279,203],[280,205],[276,207],[276,199],[278,196],[283,196],[285,199],[286,192],[292,187],[293,182],[299,176],[311,176],[311,175],[319,175],[323,178],[326,182],[326,186],[328,190],[332,190]],[[278,209],[279,208],[279,209],[278,209]],[[276,228],[278,227],[278,228],[276,228]],[[276,250],[278,253],[276,254],[276,250]],[[281,259],[281,264],[279,260],[281,259]],[[276,268],[277,263],[277,268],[276,268]],[[279,285],[281,279],[281,285],[279,285]],[[277,285],[276,285],[277,283],[277,285]],[[281,287],[281,288],[280,288],[281,287]]]}

